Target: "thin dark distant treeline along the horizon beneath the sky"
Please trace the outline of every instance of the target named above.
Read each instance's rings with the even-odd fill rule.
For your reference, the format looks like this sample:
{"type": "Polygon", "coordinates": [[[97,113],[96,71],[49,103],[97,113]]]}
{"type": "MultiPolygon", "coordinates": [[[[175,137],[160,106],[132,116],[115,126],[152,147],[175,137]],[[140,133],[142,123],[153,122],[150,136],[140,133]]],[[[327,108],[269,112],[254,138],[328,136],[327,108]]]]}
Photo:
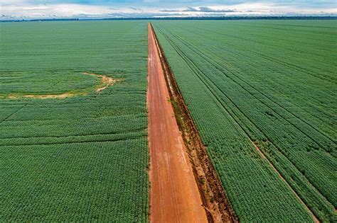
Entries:
{"type": "Polygon", "coordinates": [[[135,18],[43,18],[21,19],[0,22],[26,22],[26,21],[90,21],[90,20],[250,20],[250,19],[337,19],[337,16],[193,16],[193,17],[135,17],[135,18]]]}

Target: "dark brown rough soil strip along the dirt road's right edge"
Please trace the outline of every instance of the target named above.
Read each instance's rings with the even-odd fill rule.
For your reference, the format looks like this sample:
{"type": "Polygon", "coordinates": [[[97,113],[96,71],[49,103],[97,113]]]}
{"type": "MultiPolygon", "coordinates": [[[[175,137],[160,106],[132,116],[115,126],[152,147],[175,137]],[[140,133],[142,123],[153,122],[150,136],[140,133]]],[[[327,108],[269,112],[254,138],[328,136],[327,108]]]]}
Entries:
{"type": "Polygon", "coordinates": [[[193,173],[196,182],[198,182],[199,193],[203,200],[203,206],[207,211],[208,221],[238,222],[158,40],[156,40],[156,44],[159,48],[161,65],[164,69],[176,120],[185,145],[188,148],[188,154],[193,165],[193,173]]]}

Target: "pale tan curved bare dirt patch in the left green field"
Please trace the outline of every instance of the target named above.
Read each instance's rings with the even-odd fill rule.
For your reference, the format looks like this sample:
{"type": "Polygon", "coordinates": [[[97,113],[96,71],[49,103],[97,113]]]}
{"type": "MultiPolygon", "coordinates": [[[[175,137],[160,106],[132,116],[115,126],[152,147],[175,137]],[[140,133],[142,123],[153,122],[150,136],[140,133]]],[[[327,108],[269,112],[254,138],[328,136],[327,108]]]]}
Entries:
{"type": "MultiPolygon", "coordinates": [[[[92,74],[88,72],[82,72],[82,74],[90,74],[92,76],[100,77],[101,83],[96,86],[96,92],[103,91],[105,88],[112,86],[119,79],[113,79],[112,77],[105,76],[102,74],[92,74]]],[[[40,99],[48,99],[48,98],[69,98],[73,96],[85,96],[89,92],[66,92],[66,93],[51,93],[51,94],[10,94],[7,98],[16,99],[16,98],[40,98],[40,99]]],[[[1,96],[0,98],[6,98],[1,96]]]]}

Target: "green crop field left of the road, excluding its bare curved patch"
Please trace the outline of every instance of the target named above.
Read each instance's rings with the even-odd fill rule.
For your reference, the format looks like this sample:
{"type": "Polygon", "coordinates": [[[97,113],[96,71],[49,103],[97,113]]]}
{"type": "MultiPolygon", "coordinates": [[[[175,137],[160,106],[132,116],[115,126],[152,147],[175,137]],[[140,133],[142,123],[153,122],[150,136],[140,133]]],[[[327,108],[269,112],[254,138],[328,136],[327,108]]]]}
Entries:
{"type": "Polygon", "coordinates": [[[0,25],[0,95],[89,93],[0,98],[0,222],[146,222],[147,24],[0,25]]]}

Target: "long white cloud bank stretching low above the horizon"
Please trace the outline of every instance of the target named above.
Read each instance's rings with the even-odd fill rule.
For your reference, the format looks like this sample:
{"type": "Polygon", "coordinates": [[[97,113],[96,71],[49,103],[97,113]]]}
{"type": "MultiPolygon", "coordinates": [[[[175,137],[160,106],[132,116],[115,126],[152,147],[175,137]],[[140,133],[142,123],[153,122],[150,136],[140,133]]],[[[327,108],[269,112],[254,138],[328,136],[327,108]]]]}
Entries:
{"type": "MultiPolygon", "coordinates": [[[[157,1],[157,0],[144,0],[157,1]]],[[[272,3],[246,3],[246,4],[232,4],[218,5],[218,6],[195,6],[195,11],[186,10],[186,8],[139,8],[126,7],[116,8],[112,6],[95,6],[86,4],[29,4],[25,0],[9,0],[6,4],[1,4],[0,14],[3,15],[1,19],[13,18],[105,18],[105,17],[146,17],[146,16],[214,16],[214,12],[218,16],[239,16],[245,15],[270,15],[270,14],[287,14],[287,13],[337,13],[336,8],[294,8],[291,5],[279,5],[272,3]],[[208,10],[201,10],[206,8],[208,10]],[[224,8],[232,8],[234,10],[226,11],[224,8]],[[211,10],[210,10],[211,9],[211,10]]]]}

